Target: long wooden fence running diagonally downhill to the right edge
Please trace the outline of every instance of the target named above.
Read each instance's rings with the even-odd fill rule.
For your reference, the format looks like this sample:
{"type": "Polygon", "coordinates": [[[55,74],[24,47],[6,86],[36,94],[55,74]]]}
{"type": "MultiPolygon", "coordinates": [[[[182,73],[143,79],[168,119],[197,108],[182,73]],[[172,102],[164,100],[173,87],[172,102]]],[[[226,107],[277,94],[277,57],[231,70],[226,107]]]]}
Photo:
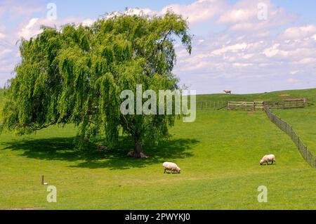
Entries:
{"type": "Polygon", "coordinates": [[[268,115],[270,121],[276,124],[279,127],[279,129],[287,133],[287,135],[294,141],[296,147],[298,148],[299,152],[301,152],[301,155],[305,159],[305,161],[313,168],[316,168],[315,155],[312,154],[312,152],[310,152],[310,150],[308,150],[308,148],[304,145],[304,143],[293,130],[292,126],[290,126],[289,124],[287,124],[286,121],[283,121],[281,118],[273,114],[268,105],[264,105],[263,109],[265,110],[265,113],[268,115]]]}

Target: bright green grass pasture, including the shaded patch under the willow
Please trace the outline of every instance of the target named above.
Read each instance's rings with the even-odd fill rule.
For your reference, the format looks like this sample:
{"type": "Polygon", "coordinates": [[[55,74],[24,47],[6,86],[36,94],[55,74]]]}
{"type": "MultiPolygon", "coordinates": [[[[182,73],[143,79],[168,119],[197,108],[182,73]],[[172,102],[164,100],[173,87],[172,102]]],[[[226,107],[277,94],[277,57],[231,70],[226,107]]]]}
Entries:
{"type": "MultiPolygon", "coordinates": [[[[311,97],[316,90],[287,92],[311,97]]],[[[222,94],[201,95],[198,100],[228,97],[259,99],[258,94],[222,94]]],[[[304,119],[315,119],[315,107],[279,113],[293,121],[294,129],[301,127],[302,138],[308,127],[304,141],[315,146],[315,123],[304,119]],[[294,114],[301,119],[293,119],[294,114]]],[[[264,112],[197,111],[195,122],[179,120],[171,133],[166,143],[145,147],[150,159],[126,157],[132,150],[127,140],[108,152],[74,150],[72,125],[31,136],[2,133],[0,209],[316,209],[316,169],[264,112]],[[277,163],[259,166],[261,157],[270,153],[277,163]],[[164,174],[165,161],[176,162],[181,173],[164,174]],[[41,175],[57,187],[57,203],[46,202],[41,175]],[[260,185],[268,187],[267,203],[257,201],[260,185]]]]}

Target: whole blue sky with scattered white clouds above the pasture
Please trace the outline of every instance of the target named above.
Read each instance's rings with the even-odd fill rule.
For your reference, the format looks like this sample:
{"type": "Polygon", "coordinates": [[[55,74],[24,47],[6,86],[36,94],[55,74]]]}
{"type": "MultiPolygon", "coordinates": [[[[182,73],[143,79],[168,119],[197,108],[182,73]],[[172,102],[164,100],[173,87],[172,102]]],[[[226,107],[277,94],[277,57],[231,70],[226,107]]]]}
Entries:
{"type": "Polygon", "coordinates": [[[173,72],[197,93],[316,87],[316,1],[312,0],[0,0],[0,87],[15,75],[12,71],[20,62],[15,43],[20,37],[34,37],[41,32],[40,25],[90,25],[103,13],[126,7],[136,14],[135,8],[140,8],[162,16],[172,8],[188,19],[195,34],[192,55],[176,43],[173,72]],[[49,3],[57,6],[56,20],[47,17],[49,3]]]}

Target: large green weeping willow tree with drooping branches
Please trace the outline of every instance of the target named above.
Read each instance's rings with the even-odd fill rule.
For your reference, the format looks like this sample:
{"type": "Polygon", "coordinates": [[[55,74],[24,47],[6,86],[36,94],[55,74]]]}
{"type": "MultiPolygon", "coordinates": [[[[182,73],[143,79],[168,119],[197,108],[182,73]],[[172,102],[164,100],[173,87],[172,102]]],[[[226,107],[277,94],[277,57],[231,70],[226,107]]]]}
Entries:
{"type": "Polygon", "coordinates": [[[31,133],[54,124],[76,124],[79,136],[105,136],[114,146],[120,133],[131,136],[135,156],[143,144],[168,136],[174,115],[123,115],[120,93],[178,89],[172,74],[174,43],[191,51],[187,22],[164,16],[115,15],[92,26],[42,27],[22,39],[22,62],[9,82],[1,110],[1,129],[31,133]]]}

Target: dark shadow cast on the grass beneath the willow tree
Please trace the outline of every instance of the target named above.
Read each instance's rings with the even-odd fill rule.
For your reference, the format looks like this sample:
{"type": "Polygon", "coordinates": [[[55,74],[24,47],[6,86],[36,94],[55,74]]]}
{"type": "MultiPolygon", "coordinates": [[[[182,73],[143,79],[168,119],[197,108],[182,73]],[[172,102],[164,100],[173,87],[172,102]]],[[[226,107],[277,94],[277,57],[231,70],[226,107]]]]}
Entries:
{"type": "Polygon", "coordinates": [[[100,152],[96,145],[86,145],[86,150],[76,150],[74,138],[44,138],[21,140],[4,143],[4,150],[21,151],[22,156],[33,159],[63,160],[77,162],[70,167],[82,167],[89,169],[129,169],[133,167],[145,167],[150,164],[183,159],[192,156],[192,148],[199,141],[190,138],[166,140],[157,146],[145,146],[148,159],[135,159],[127,157],[127,153],[133,150],[133,143],[127,138],[121,138],[117,147],[100,152]]]}

